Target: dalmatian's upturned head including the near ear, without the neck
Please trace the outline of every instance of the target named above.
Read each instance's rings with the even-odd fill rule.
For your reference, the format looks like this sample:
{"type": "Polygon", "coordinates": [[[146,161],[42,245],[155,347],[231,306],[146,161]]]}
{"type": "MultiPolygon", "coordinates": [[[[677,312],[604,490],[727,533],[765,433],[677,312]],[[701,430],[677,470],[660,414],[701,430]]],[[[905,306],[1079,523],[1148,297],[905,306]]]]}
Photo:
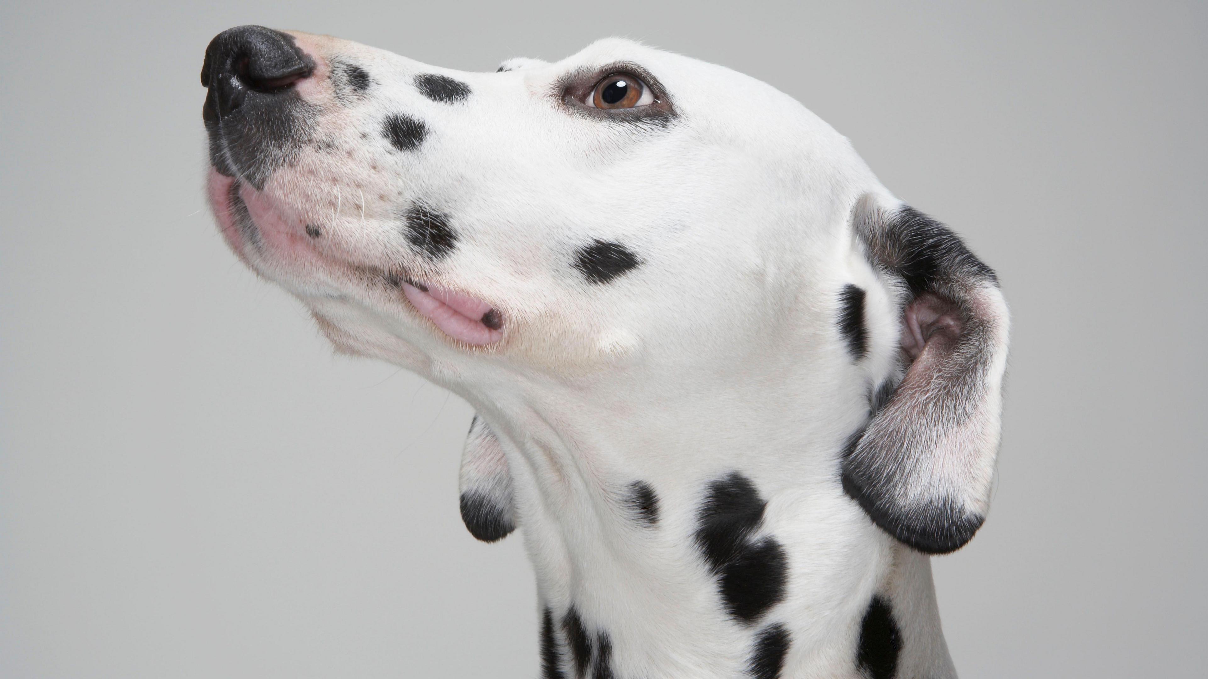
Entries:
{"type": "Polygon", "coordinates": [[[260,27],[202,82],[223,236],[338,349],[471,400],[842,358],[873,394],[848,493],[927,551],[980,526],[993,273],[788,95],[625,40],[471,74],[260,27]]]}

